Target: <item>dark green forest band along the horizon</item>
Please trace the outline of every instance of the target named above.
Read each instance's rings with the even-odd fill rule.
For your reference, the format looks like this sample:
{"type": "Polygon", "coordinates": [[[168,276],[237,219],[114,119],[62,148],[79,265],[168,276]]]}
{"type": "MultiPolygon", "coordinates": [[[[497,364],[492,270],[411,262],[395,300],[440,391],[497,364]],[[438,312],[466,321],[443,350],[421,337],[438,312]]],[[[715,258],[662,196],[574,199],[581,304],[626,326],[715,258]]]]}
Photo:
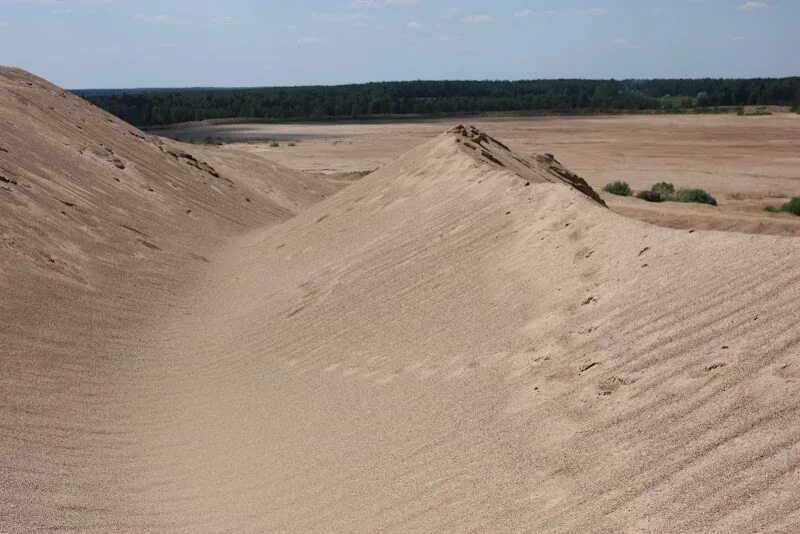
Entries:
{"type": "Polygon", "coordinates": [[[693,80],[411,81],[248,89],[74,91],[137,126],[204,119],[672,111],[800,104],[800,77],[693,80]]]}

